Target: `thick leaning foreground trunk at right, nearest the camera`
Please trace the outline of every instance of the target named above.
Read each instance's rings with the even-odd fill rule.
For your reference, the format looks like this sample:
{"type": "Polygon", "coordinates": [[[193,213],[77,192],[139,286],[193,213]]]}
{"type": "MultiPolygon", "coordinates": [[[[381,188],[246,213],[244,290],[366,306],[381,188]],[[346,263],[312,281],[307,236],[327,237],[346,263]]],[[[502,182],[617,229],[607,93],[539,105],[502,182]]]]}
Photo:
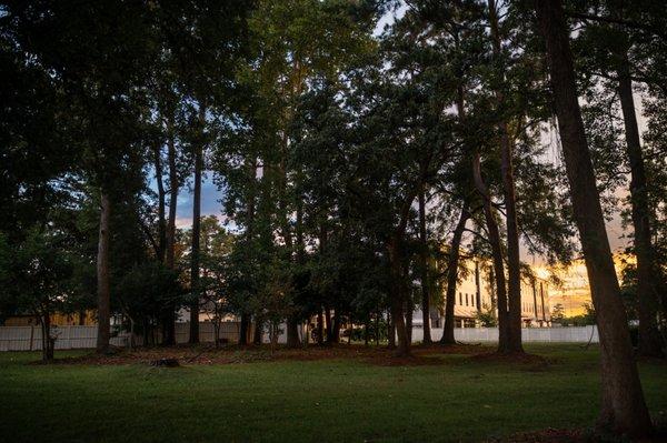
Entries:
{"type": "Polygon", "coordinates": [[[536,0],[539,30],[546,41],[554,107],[597,313],[603,369],[603,411],[598,425],[629,436],[644,436],[653,425],[633,358],[633,345],[611,249],[586,140],[560,0],[536,0]]]}

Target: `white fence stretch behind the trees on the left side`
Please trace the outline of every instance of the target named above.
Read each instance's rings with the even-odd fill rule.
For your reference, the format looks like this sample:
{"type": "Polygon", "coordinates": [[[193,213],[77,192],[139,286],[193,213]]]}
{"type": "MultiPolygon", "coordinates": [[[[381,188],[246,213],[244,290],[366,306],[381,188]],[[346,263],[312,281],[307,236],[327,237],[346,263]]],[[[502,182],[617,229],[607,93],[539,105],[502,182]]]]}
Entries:
{"type": "MultiPolygon", "coordinates": [[[[57,335],[56,349],[91,349],[97,342],[97,325],[90,326],[58,326],[52,329],[57,335]]],[[[212,343],[215,328],[211,322],[199,323],[199,341],[212,343]]],[[[120,333],[111,338],[111,344],[127,346],[129,333],[120,333]]],[[[176,323],[176,342],[187,343],[190,339],[190,324],[176,323]]],[[[220,339],[229,342],[239,340],[239,322],[222,322],[220,324],[220,339]]],[[[135,336],[135,343],[141,344],[141,336],[135,336]]],[[[0,326],[0,351],[37,351],[42,348],[42,333],[40,326],[0,326]]]]}

